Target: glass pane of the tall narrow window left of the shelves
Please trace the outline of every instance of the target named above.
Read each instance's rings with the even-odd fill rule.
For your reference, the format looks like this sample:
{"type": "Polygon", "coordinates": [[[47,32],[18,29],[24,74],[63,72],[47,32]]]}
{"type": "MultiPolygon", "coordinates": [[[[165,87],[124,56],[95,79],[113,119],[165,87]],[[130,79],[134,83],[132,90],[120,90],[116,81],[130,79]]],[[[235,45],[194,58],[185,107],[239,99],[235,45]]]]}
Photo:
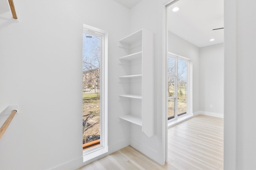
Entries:
{"type": "Polygon", "coordinates": [[[100,39],[83,33],[83,144],[88,144],[84,145],[85,150],[100,145],[100,39]]]}

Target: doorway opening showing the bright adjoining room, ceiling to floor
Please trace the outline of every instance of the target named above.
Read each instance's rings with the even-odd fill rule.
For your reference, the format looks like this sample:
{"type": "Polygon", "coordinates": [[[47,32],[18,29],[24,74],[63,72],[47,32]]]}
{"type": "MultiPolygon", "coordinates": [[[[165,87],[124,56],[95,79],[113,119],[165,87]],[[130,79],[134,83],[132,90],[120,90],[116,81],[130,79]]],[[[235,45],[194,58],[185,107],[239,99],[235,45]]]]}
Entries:
{"type": "MultiPolygon", "coordinates": [[[[166,150],[168,153],[166,157],[169,156],[166,160],[170,161],[170,158],[175,157],[175,152],[179,154],[178,149],[186,149],[185,154],[188,159],[199,160],[198,154],[203,155],[203,152],[213,149],[213,146],[208,148],[208,145],[204,145],[204,139],[202,139],[212,131],[210,128],[206,129],[207,132],[202,134],[202,138],[201,136],[194,139],[186,138],[186,135],[192,136],[192,132],[199,133],[202,130],[199,124],[205,120],[198,119],[201,115],[194,116],[202,114],[221,119],[224,113],[224,0],[171,0],[166,4],[166,15],[164,15],[166,27],[163,29],[166,35],[166,47],[164,45],[166,51],[163,52],[166,55],[163,58],[163,64],[166,64],[166,67],[162,69],[166,78],[163,80],[165,90],[163,110],[165,110],[167,122],[166,148],[168,149],[166,150]],[[182,77],[186,77],[186,81],[185,78],[178,78],[179,57],[184,63],[186,76],[182,75],[182,77]],[[181,80],[180,84],[178,79],[181,80]],[[178,105],[179,100],[182,104],[186,103],[184,111],[179,111],[179,107],[182,107],[178,105]],[[196,127],[192,127],[189,123],[192,121],[190,119],[191,121],[184,122],[183,126],[179,124],[173,127],[173,131],[178,129],[175,133],[172,128],[168,129],[192,117],[194,117],[193,120],[196,118],[198,121],[195,124],[196,127]],[[180,139],[180,142],[176,139],[180,139]],[[203,145],[206,150],[197,149],[194,152],[191,149],[203,145]]],[[[208,119],[208,117],[204,118],[208,119]]],[[[222,134],[223,125],[218,130],[220,130],[218,133],[222,134]]],[[[219,135],[212,145],[215,146],[217,143],[219,146],[214,150],[218,150],[219,155],[214,161],[218,162],[217,166],[221,169],[223,167],[221,164],[223,162],[222,135],[219,135]]],[[[183,161],[179,158],[176,160],[183,161]]],[[[205,162],[211,164],[210,159],[206,158],[205,162]]],[[[205,166],[203,162],[201,163],[205,166]]]]}

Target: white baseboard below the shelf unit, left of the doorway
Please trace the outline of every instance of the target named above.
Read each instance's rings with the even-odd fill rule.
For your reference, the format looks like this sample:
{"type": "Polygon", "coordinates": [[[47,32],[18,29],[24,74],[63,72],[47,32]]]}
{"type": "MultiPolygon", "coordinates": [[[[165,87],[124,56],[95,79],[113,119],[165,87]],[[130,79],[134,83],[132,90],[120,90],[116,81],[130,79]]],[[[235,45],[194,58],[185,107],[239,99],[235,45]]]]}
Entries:
{"type": "Polygon", "coordinates": [[[130,139],[130,146],[137,149],[138,151],[142,152],[144,155],[148,156],[149,158],[153,159],[154,161],[158,162],[158,153],[150,147],[135,141],[134,139],[130,139]]]}

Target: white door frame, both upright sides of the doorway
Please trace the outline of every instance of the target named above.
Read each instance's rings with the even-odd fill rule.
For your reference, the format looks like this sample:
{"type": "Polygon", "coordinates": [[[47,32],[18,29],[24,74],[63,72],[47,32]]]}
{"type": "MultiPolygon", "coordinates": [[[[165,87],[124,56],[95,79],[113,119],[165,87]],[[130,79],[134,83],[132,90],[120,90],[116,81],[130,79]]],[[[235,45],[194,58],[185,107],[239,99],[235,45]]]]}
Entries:
{"type": "MultiPolygon", "coordinates": [[[[159,0],[157,6],[157,112],[162,113],[162,164],[167,162],[167,115],[164,90],[166,89],[167,21],[166,5],[174,0],[159,0]]],[[[236,168],[236,12],[237,0],[224,0],[224,169],[236,168]],[[228,62],[226,62],[228,61],[228,62]],[[232,61],[232,62],[230,62],[232,61]],[[232,88],[230,88],[232,87],[232,88]],[[225,120],[229,120],[226,122],[225,120]]]]}

